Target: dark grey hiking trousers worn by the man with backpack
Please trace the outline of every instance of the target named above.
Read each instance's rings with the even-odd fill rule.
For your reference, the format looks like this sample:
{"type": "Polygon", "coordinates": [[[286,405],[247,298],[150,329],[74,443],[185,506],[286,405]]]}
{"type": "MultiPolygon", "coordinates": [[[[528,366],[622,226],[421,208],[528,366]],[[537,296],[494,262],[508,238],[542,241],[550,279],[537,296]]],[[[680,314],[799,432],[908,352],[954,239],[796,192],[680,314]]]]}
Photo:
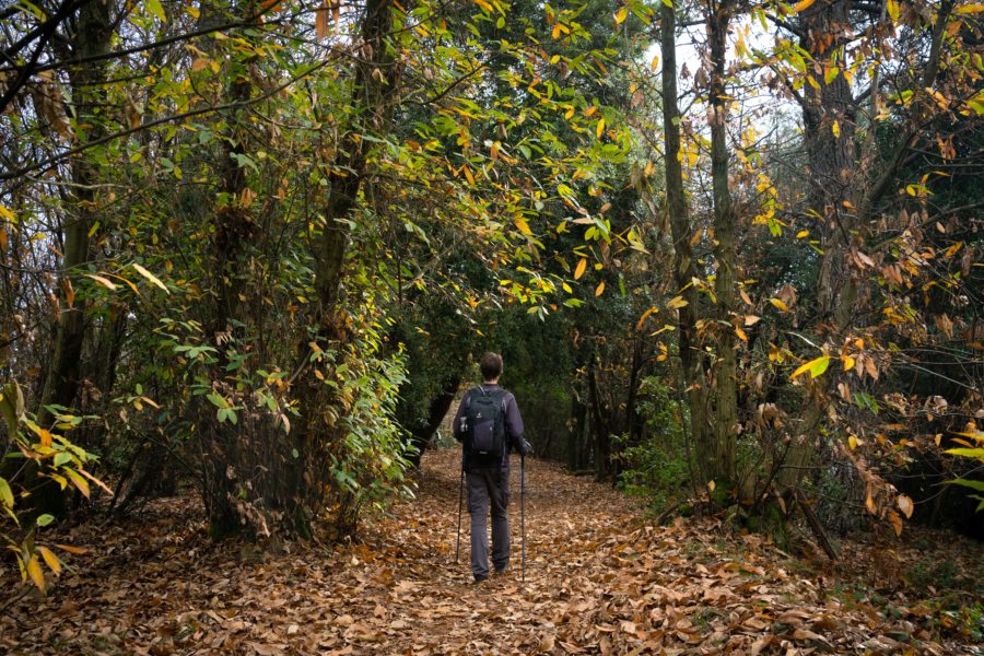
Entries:
{"type": "Polygon", "coordinates": [[[468,513],[471,515],[471,573],[489,576],[489,509],[492,511],[492,564],[496,572],[509,565],[509,468],[482,468],[465,472],[468,513]]]}

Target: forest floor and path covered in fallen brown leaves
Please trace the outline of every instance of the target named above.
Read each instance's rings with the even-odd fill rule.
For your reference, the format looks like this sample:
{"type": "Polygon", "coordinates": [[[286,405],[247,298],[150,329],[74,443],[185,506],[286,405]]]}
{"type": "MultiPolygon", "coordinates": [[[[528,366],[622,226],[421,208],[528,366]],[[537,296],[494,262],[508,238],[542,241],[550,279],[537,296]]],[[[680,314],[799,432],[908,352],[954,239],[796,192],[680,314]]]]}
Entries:
{"type": "MultiPolygon", "coordinates": [[[[62,529],[84,546],[46,598],[0,570],[3,654],[982,654],[984,546],[906,527],[831,564],[717,522],[647,522],[560,466],[513,467],[513,567],[480,585],[459,456],[424,456],[418,497],[358,542],[280,553],[212,543],[197,502],[62,529]],[[934,587],[935,586],[935,587],[934,587]]],[[[801,540],[807,544],[805,538],[801,540]]]]}

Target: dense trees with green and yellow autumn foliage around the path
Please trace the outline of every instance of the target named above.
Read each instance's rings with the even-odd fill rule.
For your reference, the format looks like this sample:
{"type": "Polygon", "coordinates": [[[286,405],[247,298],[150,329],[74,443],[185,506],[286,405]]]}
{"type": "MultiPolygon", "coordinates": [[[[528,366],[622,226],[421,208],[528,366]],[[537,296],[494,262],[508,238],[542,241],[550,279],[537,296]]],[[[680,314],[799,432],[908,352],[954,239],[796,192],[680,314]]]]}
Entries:
{"type": "Polygon", "coordinates": [[[46,526],[189,481],[215,537],[352,535],[487,349],[541,455],[660,509],[832,557],[961,515],[981,13],[0,9],[0,536],[44,587],[46,526]]]}

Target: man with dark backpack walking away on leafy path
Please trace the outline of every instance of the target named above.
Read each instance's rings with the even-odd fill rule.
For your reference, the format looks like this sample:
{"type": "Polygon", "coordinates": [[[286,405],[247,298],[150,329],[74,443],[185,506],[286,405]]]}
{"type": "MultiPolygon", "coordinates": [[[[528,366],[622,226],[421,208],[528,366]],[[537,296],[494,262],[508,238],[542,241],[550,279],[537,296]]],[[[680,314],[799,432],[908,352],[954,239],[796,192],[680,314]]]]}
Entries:
{"type": "Polygon", "coordinates": [[[485,529],[492,507],[492,564],[495,574],[509,566],[509,452],[524,457],[532,446],[523,438],[523,418],[516,397],[499,386],[502,358],[485,353],[479,363],[482,384],[470,389],[455,414],[455,440],[461,442],[461,467],[468,482],[468,513],[471,515],[471,574],[476,583],[489,578],[489,534],[485,529]]]}

